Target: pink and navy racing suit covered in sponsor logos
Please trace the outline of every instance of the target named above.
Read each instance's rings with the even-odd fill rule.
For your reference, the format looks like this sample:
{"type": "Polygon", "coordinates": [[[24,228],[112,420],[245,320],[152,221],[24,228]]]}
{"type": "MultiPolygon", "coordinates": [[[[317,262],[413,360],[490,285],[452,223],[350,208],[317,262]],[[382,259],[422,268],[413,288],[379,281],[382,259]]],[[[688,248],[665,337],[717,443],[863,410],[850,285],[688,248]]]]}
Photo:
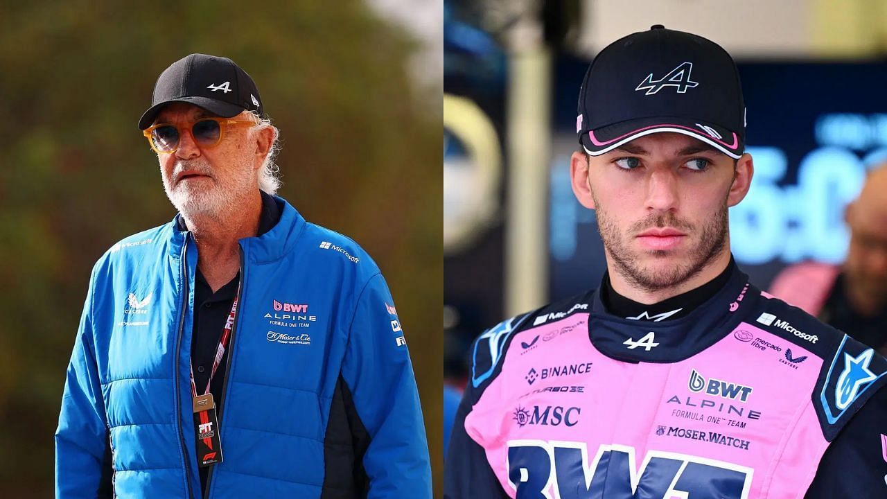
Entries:
{"type": "Polygon", "coordinates": [[[674,321],[591,291],[473,357],[446,499],[887,497],[887,361],[738,269],[674,321]]]}

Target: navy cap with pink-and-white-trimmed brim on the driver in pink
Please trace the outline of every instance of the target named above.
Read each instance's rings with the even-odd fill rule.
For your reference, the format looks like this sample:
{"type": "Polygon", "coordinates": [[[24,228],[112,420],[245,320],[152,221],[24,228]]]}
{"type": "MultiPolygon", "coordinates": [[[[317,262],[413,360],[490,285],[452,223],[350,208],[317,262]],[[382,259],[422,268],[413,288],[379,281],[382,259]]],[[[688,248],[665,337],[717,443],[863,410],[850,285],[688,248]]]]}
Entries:
{"type": "Polygon", "coordinates": [[[730,54],[702,36],[655,25],[600,51],[579,91],[585,152],[607,153],[661,131],[702,140],[730,157],[745,148],[745,105],[730,54]]]}

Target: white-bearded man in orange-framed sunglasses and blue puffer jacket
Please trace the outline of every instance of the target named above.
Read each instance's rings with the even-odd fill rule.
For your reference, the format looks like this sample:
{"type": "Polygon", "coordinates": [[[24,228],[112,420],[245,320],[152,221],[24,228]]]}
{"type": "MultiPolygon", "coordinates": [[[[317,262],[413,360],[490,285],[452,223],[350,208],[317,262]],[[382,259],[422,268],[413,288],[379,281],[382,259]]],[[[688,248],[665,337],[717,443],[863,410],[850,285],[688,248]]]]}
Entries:
{"type": "Polygon", "coordinates": [[[179,213],[93,269],[57,497],[430,497],[389,290],[355,242],[274,195],[278,130],[252,78],[189,55],[138,127],[179,213]]]}

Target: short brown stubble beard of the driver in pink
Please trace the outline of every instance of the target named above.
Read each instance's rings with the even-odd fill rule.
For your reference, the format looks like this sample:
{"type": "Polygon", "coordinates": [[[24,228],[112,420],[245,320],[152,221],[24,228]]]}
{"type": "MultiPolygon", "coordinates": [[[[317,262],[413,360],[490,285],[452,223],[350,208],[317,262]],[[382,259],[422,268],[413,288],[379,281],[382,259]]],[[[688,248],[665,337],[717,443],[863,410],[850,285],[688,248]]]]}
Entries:
{"type": "MultiPolygon", "coordinates": [[[[672,213],[659,213],[632,224],[625,235],[630,240],[624,241],[623,234],[620,233],[619,228],[608,217],[607,211],[601,210],[600,202],[596,198],[594,199],[594,204],[600,238],[603,240],[610,259],[613,261],[615,271],[635,288],[655,292],[679,286],[701,273],[705,266],[709,265],[715,257],[718,257],[726,246],[729,225],[726,198],[715,216],[706,220],[702,230],[698,232],[700,234],[699,242],[689,249],[687,263],[684,265],[676,264],[665,271],[654,271],[641,265],[639,258],[636,257],[640,255],[632,252],[632,249],[629,248],[630,240],[634,239],[635,234],[640,234],[640,232],[651,227],[674,227],[685,231],[689,235],[696,232],[694,231],[694,226],[680,220],[672,213]]],[[[668,257],[669,251],[647,250],[643,251],[643,253],[665,258],[668,257]]]]}

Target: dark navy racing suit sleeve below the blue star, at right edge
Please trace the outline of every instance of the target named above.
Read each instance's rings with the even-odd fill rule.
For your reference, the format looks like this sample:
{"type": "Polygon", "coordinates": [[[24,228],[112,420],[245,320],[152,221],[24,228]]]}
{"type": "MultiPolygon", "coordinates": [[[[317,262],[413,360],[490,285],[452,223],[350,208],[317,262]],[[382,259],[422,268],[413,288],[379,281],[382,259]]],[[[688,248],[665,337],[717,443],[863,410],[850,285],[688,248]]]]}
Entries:
{"type": "Polygon", "coordinates": [[[860,408],[822,456],[805,499],[887,497],[887,387],[860,408]]]}

